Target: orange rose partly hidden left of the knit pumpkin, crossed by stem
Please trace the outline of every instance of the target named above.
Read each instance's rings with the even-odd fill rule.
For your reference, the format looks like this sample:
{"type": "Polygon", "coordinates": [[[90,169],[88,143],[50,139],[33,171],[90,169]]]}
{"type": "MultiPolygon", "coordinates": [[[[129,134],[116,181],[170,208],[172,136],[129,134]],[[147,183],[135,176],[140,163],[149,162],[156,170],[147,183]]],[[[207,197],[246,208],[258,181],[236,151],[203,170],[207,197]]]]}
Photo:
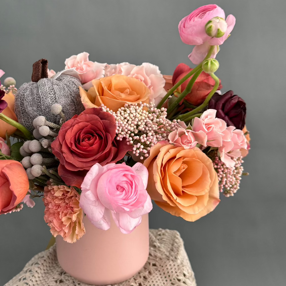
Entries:
{"type": "MultiPolygon", "coordinates": [[[[14,113],[15,96],[10,91],[8,94],[2,98],[8,104],[8,106],[2,111],[2,114],[8,116],[9,118],[18,121],[16,114],[14,113]]],[[[13,134],[17,130],[16,127],[4,122],[0,119],[0,137],[6,138],[6,132],[8,135],[13,134]]]]}

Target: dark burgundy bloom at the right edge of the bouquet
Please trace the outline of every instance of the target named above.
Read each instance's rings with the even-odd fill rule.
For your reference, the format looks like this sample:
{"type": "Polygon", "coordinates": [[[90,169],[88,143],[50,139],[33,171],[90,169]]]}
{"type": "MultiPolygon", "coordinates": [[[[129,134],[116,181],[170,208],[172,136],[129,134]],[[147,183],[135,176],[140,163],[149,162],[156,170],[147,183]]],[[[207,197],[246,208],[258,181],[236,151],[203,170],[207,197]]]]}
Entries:
{"type": "Polygon", "coordinates": [[[216,109],[217,117],[225,120],[227,126],[235,126],[240,130],[245,126],[245,101],[233,95],[232,90],[223,95],[215,93],[208,103],[208,109],[216,109]]]}

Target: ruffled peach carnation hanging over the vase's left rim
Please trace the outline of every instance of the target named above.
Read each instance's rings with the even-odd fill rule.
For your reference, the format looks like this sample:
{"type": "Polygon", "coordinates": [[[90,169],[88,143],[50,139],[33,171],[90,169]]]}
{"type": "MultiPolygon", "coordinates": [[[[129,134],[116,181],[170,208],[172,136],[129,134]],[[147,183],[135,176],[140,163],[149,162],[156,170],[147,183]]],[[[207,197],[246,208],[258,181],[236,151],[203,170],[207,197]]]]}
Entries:
{"type": "Polygon", "coordinates": [[[67,186],[46,186],[44,189],[45,222],[54,237],[61,235],[64,241],[76,242],[85,234],[83,211],[79,206],[80,195],[67,186]]]}

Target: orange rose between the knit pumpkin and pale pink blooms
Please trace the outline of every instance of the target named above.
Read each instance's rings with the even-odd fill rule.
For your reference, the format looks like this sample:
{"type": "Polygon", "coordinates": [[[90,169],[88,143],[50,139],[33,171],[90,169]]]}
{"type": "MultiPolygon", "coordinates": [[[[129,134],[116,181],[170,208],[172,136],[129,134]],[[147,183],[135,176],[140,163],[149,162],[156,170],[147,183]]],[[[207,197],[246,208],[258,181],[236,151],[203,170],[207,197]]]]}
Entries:
{"type": "Polygon", "coordinates": [[[84,107],[100,107],[104,104],[117,111],[128,103],[149,103],[150,90],[136,78],[115,74],[92,81],[88,92],[80,87],[80,97],[84,107]]]}

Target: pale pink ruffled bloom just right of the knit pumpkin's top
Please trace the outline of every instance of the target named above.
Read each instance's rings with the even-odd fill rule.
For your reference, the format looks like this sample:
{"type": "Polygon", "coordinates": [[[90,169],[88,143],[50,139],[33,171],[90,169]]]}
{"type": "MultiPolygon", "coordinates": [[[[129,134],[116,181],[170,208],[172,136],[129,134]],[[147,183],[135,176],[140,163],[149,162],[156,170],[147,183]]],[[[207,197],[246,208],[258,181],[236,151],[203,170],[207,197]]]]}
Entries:
{"type": "Polygon", "coordinates": [[[84,89],[92,86],[91,81],[104,76],[104,67],[106,63],[93,62],[88,59],[89,53],[83,52],[78,55],[72,55],[65,60],[65,69],[76,68],[84,89]]]}

